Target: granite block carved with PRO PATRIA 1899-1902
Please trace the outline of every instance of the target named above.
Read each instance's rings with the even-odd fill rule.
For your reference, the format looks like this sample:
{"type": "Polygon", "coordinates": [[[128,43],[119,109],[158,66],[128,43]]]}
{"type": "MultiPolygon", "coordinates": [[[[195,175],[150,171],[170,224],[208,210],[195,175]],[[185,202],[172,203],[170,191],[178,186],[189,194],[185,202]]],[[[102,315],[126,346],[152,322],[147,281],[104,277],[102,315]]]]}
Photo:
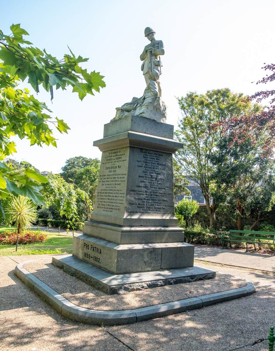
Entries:
{"type": "Polygon", "coordinates": [[[75,234],[73,256],[115,274],[191,267],[194,246],[179,243],[117,244],[75,234]]]}

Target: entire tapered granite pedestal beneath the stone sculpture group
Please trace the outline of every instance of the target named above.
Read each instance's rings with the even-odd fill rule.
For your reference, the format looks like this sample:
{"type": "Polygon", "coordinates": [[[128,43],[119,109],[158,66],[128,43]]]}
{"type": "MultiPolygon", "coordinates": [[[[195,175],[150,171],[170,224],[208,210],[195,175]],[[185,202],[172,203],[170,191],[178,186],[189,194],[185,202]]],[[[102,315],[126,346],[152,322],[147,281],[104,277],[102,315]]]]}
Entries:
{"type": "Polygon", "coordinates": [[[193,267],[194,246],[174,215],[172,154],[182,144],[173,126],[129,114],[106,124],[94,146],[102,151],[94,212],[73,256],[53,264],[106,293],[215,277],[193,267]]]}

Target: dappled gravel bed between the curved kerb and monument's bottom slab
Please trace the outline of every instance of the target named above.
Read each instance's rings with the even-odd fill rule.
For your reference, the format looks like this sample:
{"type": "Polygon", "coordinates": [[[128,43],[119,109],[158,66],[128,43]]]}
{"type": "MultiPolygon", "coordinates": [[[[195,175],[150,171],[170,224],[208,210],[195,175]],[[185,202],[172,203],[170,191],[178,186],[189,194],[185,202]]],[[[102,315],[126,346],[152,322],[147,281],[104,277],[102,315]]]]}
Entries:
{"type": "Polygon", "coordinates": [[[228,274],[218,273],[215,279],[166,285],[120,295],[107,295],[55,267],[51,264],[51,259],[49,258],[26,263],[24,268],[70,302],[81,307],[103,311],[130,310],[158,305],[165,302],[237,289],[247,285],[244,280],[228,274]]]}

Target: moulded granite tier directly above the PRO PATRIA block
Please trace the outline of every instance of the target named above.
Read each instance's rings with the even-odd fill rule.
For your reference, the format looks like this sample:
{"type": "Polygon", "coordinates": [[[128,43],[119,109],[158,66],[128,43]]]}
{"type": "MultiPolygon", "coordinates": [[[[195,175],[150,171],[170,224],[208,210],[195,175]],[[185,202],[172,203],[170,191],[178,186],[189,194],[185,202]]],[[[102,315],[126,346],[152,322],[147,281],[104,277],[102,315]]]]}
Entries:
{"type": "Polygon", "coordinates": [[[117,244],[178,243],[184,241],[180,227],[122,227],[97,221],[86,221],[84,234],[117,244]]]}

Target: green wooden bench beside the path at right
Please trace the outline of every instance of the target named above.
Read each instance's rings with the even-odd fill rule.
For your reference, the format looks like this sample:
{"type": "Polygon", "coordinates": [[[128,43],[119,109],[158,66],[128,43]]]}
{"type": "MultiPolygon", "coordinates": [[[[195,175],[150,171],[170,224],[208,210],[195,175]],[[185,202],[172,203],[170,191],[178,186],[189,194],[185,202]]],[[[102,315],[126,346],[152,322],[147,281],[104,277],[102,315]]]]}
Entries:
{"type": "MultiPolygon", "coordinates": [[[[274,245],[275,247],[275,232],[258,232],[254,230],[230,229],[229,233],[223,233],[220,236],[220,239],[222,240],[222,249],[224,247],[225,241],[229,241],[230,247],[231,247],[231,241],[235,241],[237,243],[245,243],[246,245],[254,244],[255,250],[256,250],[255,244],[274,245]],[[241,233],[241,235],[238,235],[238,233],[241,233]]],[[[245,252],[248,252],[248,249],[245,252]]],[[[274,252],[274,256],[275,256],[275,252],[274,252]]]]}

